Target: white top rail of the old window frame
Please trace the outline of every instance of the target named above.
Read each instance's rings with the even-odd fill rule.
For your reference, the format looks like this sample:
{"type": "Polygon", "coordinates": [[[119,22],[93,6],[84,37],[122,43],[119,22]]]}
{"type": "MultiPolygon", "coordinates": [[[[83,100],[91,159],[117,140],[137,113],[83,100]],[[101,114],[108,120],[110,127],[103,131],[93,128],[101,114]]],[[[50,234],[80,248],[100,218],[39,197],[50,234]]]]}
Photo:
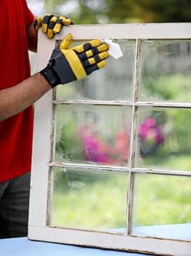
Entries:
{"type": "Polygon", "coordinates": [[[190,39],[190,23],[72,25],[57,34],[62,40],[72,33],[74,40],[100,39],[190,39]]]}

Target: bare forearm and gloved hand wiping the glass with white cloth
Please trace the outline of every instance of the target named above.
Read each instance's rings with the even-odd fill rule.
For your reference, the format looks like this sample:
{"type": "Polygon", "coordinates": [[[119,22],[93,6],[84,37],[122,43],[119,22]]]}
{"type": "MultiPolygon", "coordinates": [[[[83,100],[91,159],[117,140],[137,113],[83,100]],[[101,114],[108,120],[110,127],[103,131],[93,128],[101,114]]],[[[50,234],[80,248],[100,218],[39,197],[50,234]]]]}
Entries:
{"type": "Polygon", "coordinates": [[[0,90],[0,121],[25,110],[54,86],[84,78],[105,66],[108,45],[95,39],[69,49],[71,42],[72,35],[68,34],[40,73],[0,90]]]}

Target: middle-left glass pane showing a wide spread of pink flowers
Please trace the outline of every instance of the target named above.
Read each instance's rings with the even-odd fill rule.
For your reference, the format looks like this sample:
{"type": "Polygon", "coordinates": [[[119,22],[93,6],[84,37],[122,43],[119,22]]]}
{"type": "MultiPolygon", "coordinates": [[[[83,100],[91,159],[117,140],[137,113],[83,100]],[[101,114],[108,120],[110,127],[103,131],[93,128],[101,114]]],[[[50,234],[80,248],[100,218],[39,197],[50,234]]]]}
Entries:
{"type": "Polygon", "coordinates": [[[131,108],[56,106],[53,161],[129,165],[131,108]]]}

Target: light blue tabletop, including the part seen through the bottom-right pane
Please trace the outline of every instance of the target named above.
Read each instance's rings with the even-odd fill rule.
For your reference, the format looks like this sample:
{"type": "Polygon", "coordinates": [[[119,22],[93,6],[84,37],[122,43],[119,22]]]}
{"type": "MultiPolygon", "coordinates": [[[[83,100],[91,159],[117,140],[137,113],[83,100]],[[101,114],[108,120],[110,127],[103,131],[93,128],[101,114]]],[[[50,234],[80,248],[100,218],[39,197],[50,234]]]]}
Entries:
{"type": "MultiPolygon", "coordinates": [[[[191,223],[134,228],[134,234],[178,238],[191,241],[191,223]]],[[[94,249],[74,245],[61,245],[40,241],[29,241],[27,237],[0,239],[0,256],[148,256],[94,249]]]]}

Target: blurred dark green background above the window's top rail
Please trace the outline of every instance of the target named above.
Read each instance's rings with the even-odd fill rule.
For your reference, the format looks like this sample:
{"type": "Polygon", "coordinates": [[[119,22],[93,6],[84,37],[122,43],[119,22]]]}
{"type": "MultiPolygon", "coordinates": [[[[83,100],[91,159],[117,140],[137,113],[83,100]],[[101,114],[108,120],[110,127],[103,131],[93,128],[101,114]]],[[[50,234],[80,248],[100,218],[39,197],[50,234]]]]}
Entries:
{"type": "Polygon", "coordinates": [[[190,0],[28,0],[35,15],[67,15],[74,24],[189,22],[190,0]]]}

